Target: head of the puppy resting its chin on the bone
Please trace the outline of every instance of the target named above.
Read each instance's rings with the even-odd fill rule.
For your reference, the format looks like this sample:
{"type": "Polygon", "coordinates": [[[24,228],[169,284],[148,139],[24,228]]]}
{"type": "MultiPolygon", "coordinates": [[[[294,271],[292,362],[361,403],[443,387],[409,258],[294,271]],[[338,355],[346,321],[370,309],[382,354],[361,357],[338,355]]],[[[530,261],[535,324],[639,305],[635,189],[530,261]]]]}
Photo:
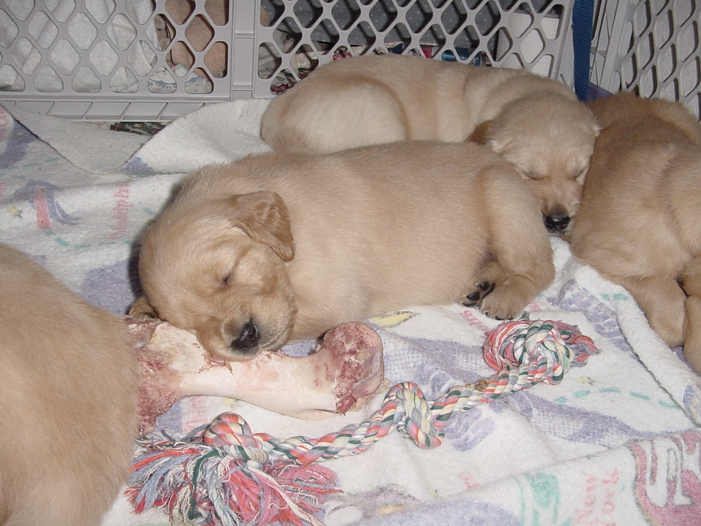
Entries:
{"type": "Polygon", "coordinates": [[[194,332],[213,355],[245,360],[287,342],[296,306],[287,208],[273,192],[176,201],[147,231],[139,255],[156,315],[194,332]]]}

